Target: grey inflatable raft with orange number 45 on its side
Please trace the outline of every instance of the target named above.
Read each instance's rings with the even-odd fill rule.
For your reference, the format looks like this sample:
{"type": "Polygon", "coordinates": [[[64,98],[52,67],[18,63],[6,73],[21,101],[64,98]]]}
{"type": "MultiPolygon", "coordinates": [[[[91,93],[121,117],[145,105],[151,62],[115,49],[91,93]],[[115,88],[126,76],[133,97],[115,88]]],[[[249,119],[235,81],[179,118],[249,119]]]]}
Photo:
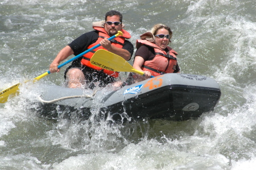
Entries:
{"type": "Polygon", "coordinates": [[[145,118],[185,121],[214,111],[221,90],[212,78],[170,73],[123,86],[96,101],[97,96],[102,96],[101,90],[45,85],[37,110],[49,119],[72,115],[89,119],[97,110],[98,117],[117,122],[145,118]]]}

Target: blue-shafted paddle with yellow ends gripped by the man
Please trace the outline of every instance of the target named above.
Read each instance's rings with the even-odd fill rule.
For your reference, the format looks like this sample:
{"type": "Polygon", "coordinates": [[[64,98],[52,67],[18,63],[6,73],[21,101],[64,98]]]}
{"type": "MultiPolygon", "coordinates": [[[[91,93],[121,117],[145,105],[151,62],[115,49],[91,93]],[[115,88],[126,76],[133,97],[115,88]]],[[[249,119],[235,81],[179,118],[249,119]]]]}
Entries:
{"type": "MultiPolygon", "coordinates": [[[[115,34],[115,35],[113,35],[112,37],[108,38],[108,40],[112,40],[112,39],[116,38],[118,35],[121,35],[121,36],[122,36],[123,33],[122,33],[121,31],[118,31],[117,34],[115,34]]],[[[87,49],[86,51],[84,51],[84,52],[80,53],[79,55],[73,57],[72,59],[66,61],[65,63],[60,64],[60,65],[58,66],[58,68],[63,67],[64,65],[70,63],[71,61],[74,61],[74,60],[78,59],[78,58],[81,57],[82,55],[85,55],[86,53],[88,53],[88,52],[90,52],[90,51],[92,51],[93,49],[98,48],[98,47],[100,47],[100,44],[97,44],[97,45],[95,45],[94,47],[92,47],[92,48],[90,48],[90,49],[87,49]]],[[[34,82],[35,82],[35,81],[38,81],[38,80],[40,80],[41,78],[47,76],[48,74],[51,74],[51,72],[50,72],[50,71],[45,72],[45,73],[41,74],[40,76],[35,77],[33,81],[34,81],[34,82]]],[[[26,82],[26,81],[25,81],[25,82],[26,82]]],[[[8,99],[9,96],[13,96],[15,93],[17,93],[17,91],[18,91],[18,89],[19,89],[19,85],[20,85],[20,83],[15,84],[15,85],[11,86],[11,87],[8,88],[8,89],[2,90],[2,92],[0,92],[0,103],[5,103],[5,102],[7,101],[7,99],[8,99]]]]}

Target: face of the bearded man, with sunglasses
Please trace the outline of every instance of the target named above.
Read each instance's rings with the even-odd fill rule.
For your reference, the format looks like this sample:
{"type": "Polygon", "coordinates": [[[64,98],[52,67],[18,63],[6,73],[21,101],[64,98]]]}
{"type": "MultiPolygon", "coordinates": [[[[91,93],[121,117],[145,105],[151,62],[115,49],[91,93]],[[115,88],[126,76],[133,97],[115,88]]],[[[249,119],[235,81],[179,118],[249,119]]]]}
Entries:
{"type": "MultiPolygon", "coordinates": [[[[117,15],[107,16],[106,22],[108,21],[120,22],[120,18],[117,15]]],[[[112,23],[111,25],[108,25],[105,23],[105,31],[108,32],[110,36],[117,34],[117,31],[120,31],[121,29],[122,29],[122,24],[119,24],[118,26],[116,26],[114,23],[112,23]]]]}

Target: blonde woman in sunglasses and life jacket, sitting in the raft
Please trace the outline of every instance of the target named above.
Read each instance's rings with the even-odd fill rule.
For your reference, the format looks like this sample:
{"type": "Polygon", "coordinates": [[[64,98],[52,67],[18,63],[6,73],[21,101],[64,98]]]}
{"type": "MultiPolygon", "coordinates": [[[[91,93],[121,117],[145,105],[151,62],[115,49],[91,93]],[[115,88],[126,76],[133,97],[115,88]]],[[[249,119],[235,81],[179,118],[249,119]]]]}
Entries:
{"type": "Polygon", "coordinates": [[[170,27],[156,24],[151,32],[146,32],[140,37],[136,42],[137,51],[133,67],[144,72],[144,76],[134,75],[136,82],[146,80],[150,76],[180,72],[176,60],[177,52],[168,47],[172,38],[170,27]]]}

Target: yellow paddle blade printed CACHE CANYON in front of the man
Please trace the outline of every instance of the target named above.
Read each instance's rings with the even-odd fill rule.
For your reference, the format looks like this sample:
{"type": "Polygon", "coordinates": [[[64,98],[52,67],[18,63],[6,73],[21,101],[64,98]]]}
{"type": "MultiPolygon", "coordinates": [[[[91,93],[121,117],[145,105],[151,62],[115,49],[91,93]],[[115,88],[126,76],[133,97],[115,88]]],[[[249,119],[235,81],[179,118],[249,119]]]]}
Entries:
{"type": "Polygon", "coordinates": [[[105,49],[99,49],[90,59],[90,64],[114,72],[133,72],[144,75],[143,72],[133,68],[125,59],[105,49]]]}

